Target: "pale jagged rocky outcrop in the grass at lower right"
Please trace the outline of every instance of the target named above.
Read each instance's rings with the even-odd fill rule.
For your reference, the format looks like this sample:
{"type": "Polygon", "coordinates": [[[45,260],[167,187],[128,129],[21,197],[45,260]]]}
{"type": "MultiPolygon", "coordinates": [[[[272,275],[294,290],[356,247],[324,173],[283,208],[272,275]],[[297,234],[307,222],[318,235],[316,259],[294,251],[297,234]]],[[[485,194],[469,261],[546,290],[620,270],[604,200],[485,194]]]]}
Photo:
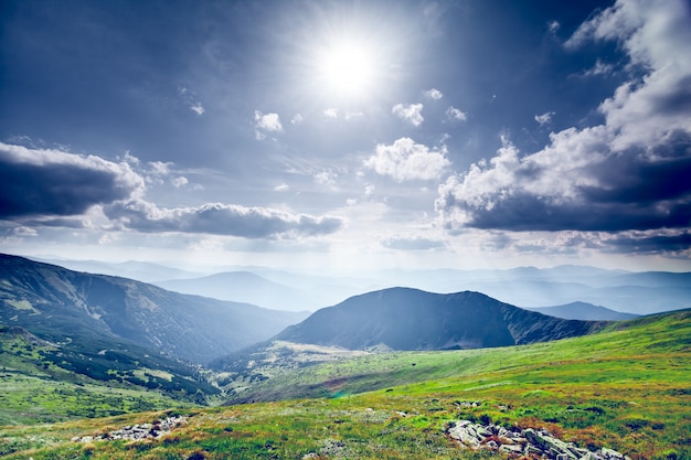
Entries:
{"type": "Polygon", "coordinates": [[[551,460],[630,460],[616,450],[597,451],[578,448],[552,436],[545,429],[507,429],[498,425],[479,425],[459,420],[449,425],[447,435],[471,449],[490,449],[509,457],[536,457],[551,460]]]}

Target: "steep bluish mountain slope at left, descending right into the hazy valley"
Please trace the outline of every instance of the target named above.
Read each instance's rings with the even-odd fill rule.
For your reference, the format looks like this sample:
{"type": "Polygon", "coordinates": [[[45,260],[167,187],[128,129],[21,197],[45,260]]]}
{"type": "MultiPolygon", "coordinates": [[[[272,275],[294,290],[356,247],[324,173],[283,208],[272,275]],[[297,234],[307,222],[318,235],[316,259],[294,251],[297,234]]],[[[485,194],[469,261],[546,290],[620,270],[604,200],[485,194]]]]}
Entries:
{"type": "Polygon", "coordinates": [[[202,364],[305,318],[10,255],[0,255],[0,301],[1,323],[51,342],[125,342],[202,364]]]}

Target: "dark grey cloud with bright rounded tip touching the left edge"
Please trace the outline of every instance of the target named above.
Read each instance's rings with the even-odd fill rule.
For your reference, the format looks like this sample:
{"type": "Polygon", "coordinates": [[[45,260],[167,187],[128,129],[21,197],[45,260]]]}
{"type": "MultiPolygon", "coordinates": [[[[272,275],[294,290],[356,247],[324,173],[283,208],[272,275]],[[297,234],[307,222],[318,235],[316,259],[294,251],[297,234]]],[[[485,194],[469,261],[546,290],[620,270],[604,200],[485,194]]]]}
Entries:
{"type": "Polygon", "coordinates": [[[76,216],[141,194],[128,163],[0,142],[0,218],[76,216]]]}

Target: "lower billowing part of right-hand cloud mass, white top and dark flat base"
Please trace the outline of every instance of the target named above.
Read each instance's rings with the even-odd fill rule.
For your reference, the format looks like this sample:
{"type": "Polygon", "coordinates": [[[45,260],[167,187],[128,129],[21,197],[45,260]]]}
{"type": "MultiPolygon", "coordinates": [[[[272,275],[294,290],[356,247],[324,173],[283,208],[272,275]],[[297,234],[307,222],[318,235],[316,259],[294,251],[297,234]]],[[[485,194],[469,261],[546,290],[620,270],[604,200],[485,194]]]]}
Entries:
{"type": "Polygon", "coordinates": [[[606,231],[689,226],[691,137],[671,151],[612,154],[604,129],[551,135],[552,145],[520,158],[506,142],[439,186],[437,211],[447,226],[511,231],[606,231]],[[650,160],[650,154],[665,157],[650,160]]]}

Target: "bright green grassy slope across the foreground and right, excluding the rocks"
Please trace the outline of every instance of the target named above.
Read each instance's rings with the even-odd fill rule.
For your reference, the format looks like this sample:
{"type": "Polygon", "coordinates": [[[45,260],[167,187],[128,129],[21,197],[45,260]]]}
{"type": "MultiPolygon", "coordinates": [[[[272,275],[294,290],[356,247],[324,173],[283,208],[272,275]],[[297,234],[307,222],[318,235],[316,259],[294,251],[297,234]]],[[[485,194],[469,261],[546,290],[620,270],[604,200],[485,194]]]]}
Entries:
{"type": "Polygon", "coordinates": [[[492,458],[445,436],[449,421],[464,418],[546,427],[580,446],[613,448],[635,460],[691,459],[690,371],[691,312],[684,311],[544,344],[316,365],[262,383],[257,395],[285,400],[185,409],[188,425],[160,440],[71,441],[151,421],[160,413],[2,427],[0,454],[34,460],[301,459],[308,453],[492,458]],[[290,391],[293,384],[300,389],[290,391]],[[295,393],[326,397],[288,399],[295,393]]]}

